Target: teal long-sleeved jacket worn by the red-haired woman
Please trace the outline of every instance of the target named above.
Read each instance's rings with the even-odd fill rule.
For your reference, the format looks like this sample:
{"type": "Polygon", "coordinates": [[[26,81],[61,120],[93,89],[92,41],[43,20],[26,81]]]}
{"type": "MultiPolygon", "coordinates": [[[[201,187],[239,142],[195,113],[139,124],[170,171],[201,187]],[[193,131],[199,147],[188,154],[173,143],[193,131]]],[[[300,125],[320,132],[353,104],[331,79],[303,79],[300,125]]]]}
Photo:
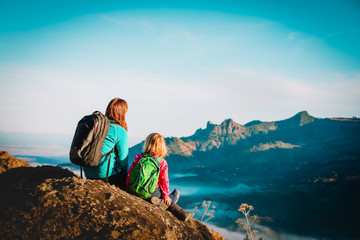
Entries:
{"type": "MultiPolygon", "coordinates": [[[[110,122],[114,122],[110,120],[110,122]]],[[[124,171],[127,174],[128,170],[128,133],[127,131],[117,124],[110,124],[110,129],[106,135],[101,154],[111,151],[115,146],[118,153],[118,160],[115,159],[115,152],[110,156],[110,169],[109,177],[124,171]]],[[[84,167],[86,178],[106,178],[106,171],[108,167],[108,156],[103,157],[97,167],[84,167]]]]}

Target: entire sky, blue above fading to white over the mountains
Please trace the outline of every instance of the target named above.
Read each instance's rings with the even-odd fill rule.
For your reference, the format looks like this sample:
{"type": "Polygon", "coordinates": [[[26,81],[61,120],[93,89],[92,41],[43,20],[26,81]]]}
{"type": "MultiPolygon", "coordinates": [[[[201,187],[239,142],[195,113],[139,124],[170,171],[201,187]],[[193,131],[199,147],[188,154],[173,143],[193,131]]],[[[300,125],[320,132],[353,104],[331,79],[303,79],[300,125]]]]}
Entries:
{"type": "Polygon", "coordinates": [[[131,144],[209,120],[359,117],[359,23],[358,1],[2,0],[0,144],[71,140],[113,97],[131,144]]]}

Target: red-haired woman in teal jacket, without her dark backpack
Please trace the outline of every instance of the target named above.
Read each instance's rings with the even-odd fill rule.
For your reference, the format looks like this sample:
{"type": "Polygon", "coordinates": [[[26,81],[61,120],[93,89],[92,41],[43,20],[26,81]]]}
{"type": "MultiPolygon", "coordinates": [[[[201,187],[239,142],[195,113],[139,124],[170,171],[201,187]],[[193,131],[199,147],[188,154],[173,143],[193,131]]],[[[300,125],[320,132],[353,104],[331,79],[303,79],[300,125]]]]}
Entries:
{"type": "MultiPolygon", "coordinates": [[[[109,183],[124,188],[128,169],[128,133],[125,115],[128,110],[127,102],[120,98],[114,98],[106,108],[105,115],[110,121],[110,129],[106,135],[101,154],[110,154],[109,183]]],[[[88,179],[106,180],[108,170],[108,158],[104,156],[96,167],[84,167],[85,176],[88,179]]]]}

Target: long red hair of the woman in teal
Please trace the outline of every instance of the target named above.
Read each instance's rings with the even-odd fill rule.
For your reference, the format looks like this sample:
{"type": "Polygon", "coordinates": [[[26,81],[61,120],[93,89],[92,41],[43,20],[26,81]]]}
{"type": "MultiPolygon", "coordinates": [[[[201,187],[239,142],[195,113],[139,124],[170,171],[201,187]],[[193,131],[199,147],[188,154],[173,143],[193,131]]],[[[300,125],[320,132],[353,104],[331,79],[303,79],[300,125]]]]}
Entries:
{"type": "Polygon", "coordinates": [[[128,110],[127,102],[120,98],[112,99],[107,108],[105,115],[120,124],[127,131],[127,123],[125,120],[125,115],[128,110]]]}

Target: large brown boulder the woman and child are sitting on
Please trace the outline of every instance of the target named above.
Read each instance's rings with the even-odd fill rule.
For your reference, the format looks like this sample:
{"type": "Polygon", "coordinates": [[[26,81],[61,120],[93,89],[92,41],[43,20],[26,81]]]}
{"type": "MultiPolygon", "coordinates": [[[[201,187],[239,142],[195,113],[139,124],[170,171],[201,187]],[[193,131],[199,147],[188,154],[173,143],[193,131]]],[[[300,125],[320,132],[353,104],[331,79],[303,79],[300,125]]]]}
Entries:
{"type": "Polygon", "coordinates": [[[202,223],[60,167],[0,174],[0,239],[223,239],[202,223]]]}

